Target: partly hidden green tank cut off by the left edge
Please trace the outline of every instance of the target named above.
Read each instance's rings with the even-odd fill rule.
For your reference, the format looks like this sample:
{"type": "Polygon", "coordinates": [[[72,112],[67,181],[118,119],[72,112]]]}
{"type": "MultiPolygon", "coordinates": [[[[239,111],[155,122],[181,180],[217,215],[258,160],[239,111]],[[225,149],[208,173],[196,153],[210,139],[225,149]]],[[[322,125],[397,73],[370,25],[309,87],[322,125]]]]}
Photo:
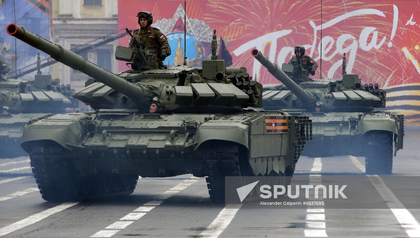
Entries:
{"type": "Polygon", "coordinates": [[[60,85],[59,79],[42,74],[40,62],[38,54],[38,72],[34,79],[0,76],[0,158],[27,154],[20,144],[29,120],[78,106],[78,100],[71,97],[70,85],[60,85]]]}

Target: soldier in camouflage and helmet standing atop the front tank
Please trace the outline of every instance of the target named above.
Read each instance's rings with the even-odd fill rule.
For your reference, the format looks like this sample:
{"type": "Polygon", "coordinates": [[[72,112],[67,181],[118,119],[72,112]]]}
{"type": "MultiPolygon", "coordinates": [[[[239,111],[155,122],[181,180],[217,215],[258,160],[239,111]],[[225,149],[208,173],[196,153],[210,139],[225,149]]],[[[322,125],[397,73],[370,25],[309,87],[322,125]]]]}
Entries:
{"type": "MultiPolygon", "coordinates": [[[[163,66],[162,61],[171,55],[168,38],[159,29],[150,26],[153,23],[152,13],[139,12],[137,17],[139,18],[140,29],[135,30],[133,35],[138,36],[140,42],[143,42],[146,46],[146,50],[153,54],[150,60],[150,69],[158,69],[159,66],[163,66]]],[[[131,39],[130,47],[134,47],[134,39],[131,39]]]]}

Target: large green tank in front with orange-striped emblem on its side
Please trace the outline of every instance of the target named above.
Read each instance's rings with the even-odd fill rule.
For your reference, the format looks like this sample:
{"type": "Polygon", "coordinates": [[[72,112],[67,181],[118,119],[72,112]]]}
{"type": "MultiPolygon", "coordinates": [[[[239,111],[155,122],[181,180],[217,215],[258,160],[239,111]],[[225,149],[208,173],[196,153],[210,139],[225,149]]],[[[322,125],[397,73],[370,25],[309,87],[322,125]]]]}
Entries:
{"type": "Polygon", "coordinates": [[[94,112],[52,115],[24,130],[21,146],[47,201],[126,195],[139,176],[193,174],[207,176],[210,199],[220,202],[225,176],[290,183],[311,138],[306,116],[249,108],[261,107],[262,85],[218,60],[215,31],[202,67],[149,70],[150,54],[137,44],[117,47],[115,58],[135,68],[118,74],[14,24],[7,31],[93,78],[73,97],[94,112]]]}

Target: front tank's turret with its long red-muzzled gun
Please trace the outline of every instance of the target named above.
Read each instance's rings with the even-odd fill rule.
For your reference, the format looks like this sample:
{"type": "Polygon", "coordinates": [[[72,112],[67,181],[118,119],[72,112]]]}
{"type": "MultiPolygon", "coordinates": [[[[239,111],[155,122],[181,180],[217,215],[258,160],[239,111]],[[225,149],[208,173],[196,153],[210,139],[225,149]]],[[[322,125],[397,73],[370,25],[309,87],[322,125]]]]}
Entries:
{"type": "MultiPolygon", "coordinates": [[[[134,52],[130,48],[118,47],[117,59],[130,61],[136,58],[141,62],[116,75],[15,24],[10,24],[7,31],[55,60],[92,77],[95,82],[73,96],[95,109],[126,108],[142,112],[148,110],[154,97],[159,99],[165,112],[240,111],[244,107],[262,105],[262,85],[252,81],[244,67],[225,67],[224,60],[218,60],[215,52],[212,60],[203,61],[201,68],[177,65],[148,70],[144,67],[148,56],[144,47],[140,44],[136,47],[138,57],[132,56],[134,52]]],[[[216,42],[215,34],[213,38],[216,42]]]]}

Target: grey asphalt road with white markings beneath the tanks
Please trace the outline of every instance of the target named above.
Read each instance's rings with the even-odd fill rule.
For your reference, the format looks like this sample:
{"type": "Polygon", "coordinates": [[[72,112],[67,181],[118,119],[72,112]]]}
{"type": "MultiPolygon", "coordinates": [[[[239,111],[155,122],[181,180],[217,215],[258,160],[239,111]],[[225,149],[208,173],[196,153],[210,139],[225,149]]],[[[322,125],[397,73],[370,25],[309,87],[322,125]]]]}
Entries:
{"type": "MultiPolygon", "coordinates": [[[[392,176],[420,175],[419,139],[419,131],[406,132],[392,176]]],[[[301,157],[295,176],[313,175],[314,181],[326,175],[364,176],[364,160],[301,157]]],[[[392,200],[392,194],[386,196],[392,200]]],[[[134,194],[121,198],[50,203],[39,194],[29,157],[0,160],[2,237],[420,237],[418,220],[420,207],[225,208],[212,204],[205,179],[192,175],[140,178],[134,194]]]]}

